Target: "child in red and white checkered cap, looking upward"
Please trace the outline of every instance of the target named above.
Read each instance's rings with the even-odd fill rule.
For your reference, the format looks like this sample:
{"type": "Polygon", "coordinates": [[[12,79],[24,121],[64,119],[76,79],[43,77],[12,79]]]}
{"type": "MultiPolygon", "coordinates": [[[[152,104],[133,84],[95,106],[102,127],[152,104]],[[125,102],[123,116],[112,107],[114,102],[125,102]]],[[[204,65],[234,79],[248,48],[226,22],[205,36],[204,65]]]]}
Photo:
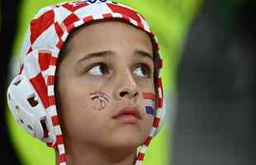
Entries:
{"type": "Polygon", "coordinates": [[[164,116],[162,60],[143,16],[104,0],[45,7],[22,55],[8,104],[57,164],[142,163],[164,116]]]}

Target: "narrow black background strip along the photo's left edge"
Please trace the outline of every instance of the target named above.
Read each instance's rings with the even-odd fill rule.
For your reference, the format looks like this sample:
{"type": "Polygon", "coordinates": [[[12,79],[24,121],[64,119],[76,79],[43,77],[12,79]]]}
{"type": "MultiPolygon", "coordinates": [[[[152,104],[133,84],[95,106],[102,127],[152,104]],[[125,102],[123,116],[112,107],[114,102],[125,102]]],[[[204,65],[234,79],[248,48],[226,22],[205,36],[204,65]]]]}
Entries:
{"type": "Polygon", "coordinates": [[[7,130],[6,87],[9,63],[12,59],[12,47],[17,32],[17,20],[20,0],[1,1],[1,59],[0,59],[0,164],[21,164],[14,151],[7,130]]]}

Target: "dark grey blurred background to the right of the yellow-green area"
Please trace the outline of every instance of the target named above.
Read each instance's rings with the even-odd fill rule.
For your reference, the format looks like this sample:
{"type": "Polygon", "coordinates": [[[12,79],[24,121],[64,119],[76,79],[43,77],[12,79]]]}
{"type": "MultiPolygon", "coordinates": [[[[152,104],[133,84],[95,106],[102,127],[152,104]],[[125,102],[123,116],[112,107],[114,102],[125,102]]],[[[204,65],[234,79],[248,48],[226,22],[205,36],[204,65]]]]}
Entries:
{"type": "Polygon", "coordinates": [[[255,2],[206,0],[178,67],[173,165],[255,165],[255,2]]]}

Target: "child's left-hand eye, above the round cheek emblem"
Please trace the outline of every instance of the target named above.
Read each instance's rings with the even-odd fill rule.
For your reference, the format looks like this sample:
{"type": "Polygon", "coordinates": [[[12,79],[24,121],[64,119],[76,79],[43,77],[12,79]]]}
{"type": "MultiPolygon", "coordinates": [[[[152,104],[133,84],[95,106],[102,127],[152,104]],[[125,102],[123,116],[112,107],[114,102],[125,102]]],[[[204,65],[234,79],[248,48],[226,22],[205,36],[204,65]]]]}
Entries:
{"type": "Polygon", "coordinates": [[[106,64],[94,64],[87,69],[86,73],[92,76],[102,76],[109,73],[106,64]]]}

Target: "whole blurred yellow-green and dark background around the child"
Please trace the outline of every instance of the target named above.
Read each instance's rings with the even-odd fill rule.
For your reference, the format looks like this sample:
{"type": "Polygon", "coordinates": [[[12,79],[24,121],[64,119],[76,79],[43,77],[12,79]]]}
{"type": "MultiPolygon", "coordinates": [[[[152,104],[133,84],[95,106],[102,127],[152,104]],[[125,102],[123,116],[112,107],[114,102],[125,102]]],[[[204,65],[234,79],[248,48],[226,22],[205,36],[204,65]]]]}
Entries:
{"type": "MultiPolygon", "coordinates": [[[[60,0],[1,2],[0,158],[55,164],[7,109],[7,82],[18,72],[22,40],[41,7],[60,0]],[[8,80],[8,81],[7,81],[8,80]]],[[[255,165],[256,48],[253,0],[120,0],[159,38],[167,114],[145,165],[255,165]]]]}

